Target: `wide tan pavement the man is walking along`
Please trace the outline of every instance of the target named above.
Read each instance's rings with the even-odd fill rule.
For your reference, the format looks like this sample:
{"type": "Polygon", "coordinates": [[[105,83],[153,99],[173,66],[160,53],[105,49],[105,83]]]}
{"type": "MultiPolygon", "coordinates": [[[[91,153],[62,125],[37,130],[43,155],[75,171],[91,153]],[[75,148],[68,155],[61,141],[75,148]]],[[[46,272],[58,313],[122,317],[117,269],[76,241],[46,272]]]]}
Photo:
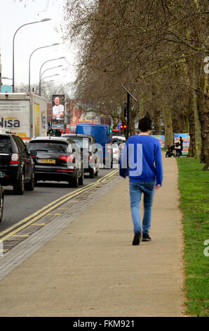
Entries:
{"type": "Polygon", "coordinates": [[[0,282],[0,316],[184,316],[177,164],[163,157],[151,242],[132,246],[121,180],[0,282]]]}

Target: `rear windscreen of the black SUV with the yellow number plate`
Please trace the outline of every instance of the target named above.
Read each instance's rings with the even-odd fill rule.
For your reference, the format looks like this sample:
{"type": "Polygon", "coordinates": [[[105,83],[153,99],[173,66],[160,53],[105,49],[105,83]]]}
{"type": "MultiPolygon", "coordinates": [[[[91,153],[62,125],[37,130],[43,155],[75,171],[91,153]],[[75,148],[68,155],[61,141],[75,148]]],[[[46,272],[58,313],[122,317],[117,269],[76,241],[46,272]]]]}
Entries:
{"type": "Polygon", "coordinates": [[[66,142],[55,142],[51,141],[34,141],[29,142],[28,151],[46,151],[50,153],[67,153],[67,143],[66,142]]]}

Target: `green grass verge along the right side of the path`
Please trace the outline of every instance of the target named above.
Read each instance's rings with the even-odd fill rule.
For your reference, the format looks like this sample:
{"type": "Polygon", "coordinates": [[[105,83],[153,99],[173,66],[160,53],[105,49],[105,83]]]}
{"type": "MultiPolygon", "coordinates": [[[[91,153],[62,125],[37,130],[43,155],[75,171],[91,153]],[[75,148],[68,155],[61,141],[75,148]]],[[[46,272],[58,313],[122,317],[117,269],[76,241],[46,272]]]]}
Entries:
{"type": "Polygon", "coordinates": [[[177,158],[184,226],[185,292],[191,316],[209,316],[209,173],[196,158],[177,158]],[[208,242],[206,242],[208,240],[208,242]]]}

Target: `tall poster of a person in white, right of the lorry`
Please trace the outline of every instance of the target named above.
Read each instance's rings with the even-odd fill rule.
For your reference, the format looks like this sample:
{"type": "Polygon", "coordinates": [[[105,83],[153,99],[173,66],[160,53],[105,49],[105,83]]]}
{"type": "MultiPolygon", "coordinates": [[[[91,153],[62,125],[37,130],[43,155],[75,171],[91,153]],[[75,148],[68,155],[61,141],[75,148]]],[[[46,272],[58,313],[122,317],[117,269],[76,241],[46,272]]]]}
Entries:
{"type": "Polygon", "coordinates": [[[65,123],[65,94],[53,94],[52,96],[52,123],[65,123]]]}

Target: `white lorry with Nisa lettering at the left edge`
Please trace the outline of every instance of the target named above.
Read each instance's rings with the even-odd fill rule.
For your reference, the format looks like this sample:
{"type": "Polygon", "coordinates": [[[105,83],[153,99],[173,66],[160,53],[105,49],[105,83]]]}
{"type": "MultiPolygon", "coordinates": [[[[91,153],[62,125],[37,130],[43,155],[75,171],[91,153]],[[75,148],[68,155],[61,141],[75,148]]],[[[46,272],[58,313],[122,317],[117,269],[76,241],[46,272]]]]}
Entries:
{"type": "Polygon", "coordinates": [[[0,131],[8,130],[24,142],[46,136],[47,100],[34,93],[0,93],[0,131]]]}

